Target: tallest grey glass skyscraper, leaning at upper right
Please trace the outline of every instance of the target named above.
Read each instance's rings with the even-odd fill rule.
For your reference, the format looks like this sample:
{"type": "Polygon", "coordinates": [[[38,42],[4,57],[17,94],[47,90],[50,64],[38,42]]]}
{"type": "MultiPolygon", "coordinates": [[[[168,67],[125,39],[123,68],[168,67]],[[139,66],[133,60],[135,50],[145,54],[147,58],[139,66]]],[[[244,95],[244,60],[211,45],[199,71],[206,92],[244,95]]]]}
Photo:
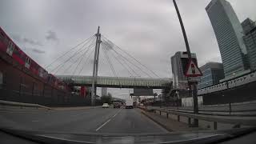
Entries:
{"type": "Polygon", "coordinates": [[[218,41],[225,77],[247,70],[246,45],[242,39],[243,30],[230,2],[212,0],[206,6],[206,12],[218,41]]]}

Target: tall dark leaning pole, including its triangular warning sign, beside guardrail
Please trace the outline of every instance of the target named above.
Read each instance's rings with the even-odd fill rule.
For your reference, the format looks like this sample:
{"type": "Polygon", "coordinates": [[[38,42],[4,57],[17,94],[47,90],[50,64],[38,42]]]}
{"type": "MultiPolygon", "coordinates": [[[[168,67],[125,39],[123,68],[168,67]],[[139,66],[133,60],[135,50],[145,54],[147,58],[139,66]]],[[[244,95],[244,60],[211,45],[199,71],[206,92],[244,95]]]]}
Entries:
{"type": "MultiPolygon", "coordinates": [[[[177,3],[175,0],[173,0],[174,2],[174,6],[175,6],[175,10],[178,14],[178,20],[180,22],[180,25],[182,27],[182,34],[183,34],[183,37],[184,37],[184,41],[185,41],[185,44],[186,44],[186,52],[188,54],[188,59],[189,59],[189,65],[187,66],[187,70],[186,70],[186,73],[185,75],[188,77],[198,77],[198,76],[201,76],[202,73],[201,71],[198,69],[198,66],[196,65],[196,63],[194,63],[192,61],[192,58],[191,58],[191,53],[190,53],[190,45],[189,45],[189,42],[187,40],[187,37],[186,37],[186,30],[183,26],[183,22],[182,22],[182,17],[181,17],[181,14],[179,13],[179,10],[178,10],[178,6],[177,6],[177,3]]],[[[198,90],[197,90],[197,84],[198,82],[190,82],[188,81],[188,85],[189,85],[189,89],[193,91],[193,102],[194,102],[194,114],[198,114],[198,90]],[[193,89],[192,89],[193,87],[193,89]]],[[[198,127],[198,119],[194,119],[194,126],[198,127]]]]}

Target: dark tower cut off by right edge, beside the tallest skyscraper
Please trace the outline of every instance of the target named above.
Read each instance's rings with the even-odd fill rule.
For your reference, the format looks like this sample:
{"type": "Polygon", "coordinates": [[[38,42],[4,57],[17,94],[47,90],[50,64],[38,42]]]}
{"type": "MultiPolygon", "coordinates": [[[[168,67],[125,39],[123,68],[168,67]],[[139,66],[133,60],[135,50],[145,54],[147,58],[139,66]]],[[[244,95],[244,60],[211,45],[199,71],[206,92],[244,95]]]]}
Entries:
{"type": "Polygon", "coordinates": [[[250,18],[242,22],[250,70],[256,70],[256,25],[250,18]]]}

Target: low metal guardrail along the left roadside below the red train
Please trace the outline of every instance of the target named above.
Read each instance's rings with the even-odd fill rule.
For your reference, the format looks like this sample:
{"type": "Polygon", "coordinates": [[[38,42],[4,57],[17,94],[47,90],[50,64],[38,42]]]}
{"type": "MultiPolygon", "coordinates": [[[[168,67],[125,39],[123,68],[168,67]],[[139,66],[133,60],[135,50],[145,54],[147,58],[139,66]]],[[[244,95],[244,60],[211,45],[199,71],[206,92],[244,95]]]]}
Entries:
{"type": "Polygon", "coordinates": [[[38,104],[33,104],[33,103],[22,103],[22,102],[10,102],[10,101],[2,101],[0,100],[0,105],[1,106],[18,106],[18,107],[35,107],[35,108],[43,108],[47,110],[51,110],[52,108],[47,107],[47,106],[42,106],[38,104]]]}

